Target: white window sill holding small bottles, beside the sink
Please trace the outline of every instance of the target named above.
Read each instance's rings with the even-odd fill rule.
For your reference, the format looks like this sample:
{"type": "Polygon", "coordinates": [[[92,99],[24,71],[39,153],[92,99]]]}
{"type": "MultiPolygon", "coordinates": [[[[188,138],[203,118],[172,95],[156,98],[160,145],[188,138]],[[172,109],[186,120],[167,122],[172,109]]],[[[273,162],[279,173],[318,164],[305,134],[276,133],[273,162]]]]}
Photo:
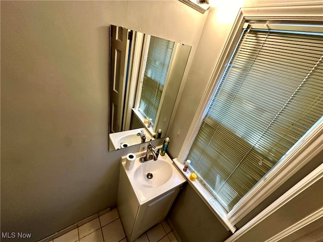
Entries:
{"type": "Polygon", "coordinates": [[[191,181],[190,175],[192,173],[191,169],[183,171],[184,164],[179,162],[177,158],[173,159],[175,165],[180,169],[183,175],[187,178],[188,183],[193,187],[201,199],[205,202],[207,207],[213,212],[214,215],[220,220],[220,222],[225,226],[226,229],[230,230],[232,233],[236,231],[236,227],[229,221],[227,215],[228,213],[223,209],[220,203],[214,198],[214,196],[205,188],[203,183],[197,177],[196,180],[191,181]]]}

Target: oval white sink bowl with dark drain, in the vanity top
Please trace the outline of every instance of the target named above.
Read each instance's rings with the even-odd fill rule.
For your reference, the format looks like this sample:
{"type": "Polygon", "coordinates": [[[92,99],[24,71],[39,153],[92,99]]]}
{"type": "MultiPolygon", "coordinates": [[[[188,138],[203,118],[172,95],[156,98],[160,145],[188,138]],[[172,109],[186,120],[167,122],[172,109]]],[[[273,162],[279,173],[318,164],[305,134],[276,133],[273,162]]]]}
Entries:
{"type": "Polygon", "coordinates": [[[172,174],[171,163],[165,160],[150,160],[140,164],[134,176],[143,187],[158,187],[165,184],[172,174]]]}

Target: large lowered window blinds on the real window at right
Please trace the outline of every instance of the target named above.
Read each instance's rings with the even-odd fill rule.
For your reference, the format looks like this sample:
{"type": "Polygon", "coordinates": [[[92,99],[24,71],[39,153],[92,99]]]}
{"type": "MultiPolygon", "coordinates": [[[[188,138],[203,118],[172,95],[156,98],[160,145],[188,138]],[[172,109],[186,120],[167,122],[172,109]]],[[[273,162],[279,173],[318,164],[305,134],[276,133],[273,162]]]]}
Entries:
{"type": "Polygon", "coordinates": [[[323,38],[245,30],[188,154],[229,212],[323,114],[323,38]]]}

